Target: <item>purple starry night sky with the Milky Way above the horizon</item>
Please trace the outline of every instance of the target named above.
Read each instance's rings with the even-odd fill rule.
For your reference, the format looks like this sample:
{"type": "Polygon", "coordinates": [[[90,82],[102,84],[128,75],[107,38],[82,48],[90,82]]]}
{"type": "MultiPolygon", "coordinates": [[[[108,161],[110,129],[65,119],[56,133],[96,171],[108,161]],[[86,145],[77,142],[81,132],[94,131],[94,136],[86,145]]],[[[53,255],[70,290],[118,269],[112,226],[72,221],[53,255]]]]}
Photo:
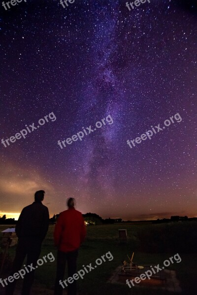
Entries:
{"type": "Polygon", "coordinates": [[[0,141],[56,118],[0,143],[0,216],[17,219],[39,189],[51,217],[68,197],[103,218],[197,216],[196,1],[27,0],[0,15],[0,141]]]}

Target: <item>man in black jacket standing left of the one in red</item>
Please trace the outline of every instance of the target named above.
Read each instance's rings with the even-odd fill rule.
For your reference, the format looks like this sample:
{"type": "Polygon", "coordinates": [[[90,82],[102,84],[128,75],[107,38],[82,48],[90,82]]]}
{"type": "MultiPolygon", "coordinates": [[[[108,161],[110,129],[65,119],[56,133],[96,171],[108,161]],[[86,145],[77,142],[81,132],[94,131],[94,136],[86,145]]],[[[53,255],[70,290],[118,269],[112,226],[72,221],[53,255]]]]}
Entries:
{"type": "MultiPolygon", "coordinates": [[[[31,267],[32,270],[25,275],[21,295],[30,294],[34,278],[33,268],[36,266],[41,251],[41,244],[49,227],[49,211],[46,206],[42,205],[44,194],[43,190],[35,192],[35,202],[23,208],[15,229],[19,242],[10,275],[21,269],[26,255],[26,266],[33,266],[31,267]]],[[[15,285],[16,279],[12,283],[8,283],[5,294],[13,295],[15,285]]]]}

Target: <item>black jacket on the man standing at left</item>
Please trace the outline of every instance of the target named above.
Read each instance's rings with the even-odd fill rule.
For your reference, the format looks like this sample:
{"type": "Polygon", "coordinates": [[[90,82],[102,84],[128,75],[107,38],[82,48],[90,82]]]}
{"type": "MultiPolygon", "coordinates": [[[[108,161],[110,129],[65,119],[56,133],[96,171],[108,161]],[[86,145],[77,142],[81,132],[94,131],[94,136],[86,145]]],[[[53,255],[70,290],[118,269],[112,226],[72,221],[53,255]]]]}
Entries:
{"type": "Polygon", "coordinates": [[[23,208],[16,224],[16,234],[20,237],[33,237],[43,240],[49,227],[49,210],[41,202],[23,208]]]}

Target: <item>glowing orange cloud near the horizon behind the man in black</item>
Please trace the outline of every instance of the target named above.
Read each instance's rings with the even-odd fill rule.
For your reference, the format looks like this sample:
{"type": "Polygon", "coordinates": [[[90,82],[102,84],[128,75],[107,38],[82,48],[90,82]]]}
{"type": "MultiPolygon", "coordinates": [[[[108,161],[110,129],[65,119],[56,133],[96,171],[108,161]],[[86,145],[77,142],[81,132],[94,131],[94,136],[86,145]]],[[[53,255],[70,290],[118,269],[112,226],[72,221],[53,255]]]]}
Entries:
{"type": "Polygon", "coordinates": [[[19,169],[9,163],[6,167],[0,167],[0,175],[0,213],[6,212],[7,215],[14,216],[21,212],[23,207],[33,203],[34,193],[40,189],[47,196],[47,201],[45,198],[43,204],[51,204],[54,188],[35,169],[19,169]]]}

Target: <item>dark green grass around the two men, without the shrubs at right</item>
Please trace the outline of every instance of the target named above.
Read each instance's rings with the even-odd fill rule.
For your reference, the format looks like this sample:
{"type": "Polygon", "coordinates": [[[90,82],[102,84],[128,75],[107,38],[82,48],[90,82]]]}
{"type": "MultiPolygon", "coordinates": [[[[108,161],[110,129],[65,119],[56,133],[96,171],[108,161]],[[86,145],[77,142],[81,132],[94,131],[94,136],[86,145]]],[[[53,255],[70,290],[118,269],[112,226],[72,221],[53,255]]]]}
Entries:
{"type": "MultiPolygon", "coordinates": [[[[103,262],[102,265],[97,266],[96,269],[87,273],[84,279],[78,279],[78,292],[81,295],[170,295],[174,293],[151,290],[150,288],[137,288],[132,287],[131,289],[125,285],[109,284],[107,279],[110,277],[113,270],[121,265],[123,260],[127,260],[127,254],[131,256],[134,251],[134,262],[138,265],[163,265],[164,260],[171,256],[174,256],[177,252],[168,253],[145,253],[139,252],[140,240],[138,239],[138,233],[143,230],[148,233],[152,229],[156,229],[158,232],[163,231],[165,225],[158,224],[114,224],[114,225],[100,225],[100,226],[89,226],[87,227],[87,238],[82,247],[79,250],[78,256],[78,270],[83,269],[83,265],[89,265],[92,263],[95,266],[95,261],[100,258],[103,254],[110,251],[113,255],[112,261],[103,262]],[[118,244],[118,229],[124,228],[128,232],[128,245],[118,244]]],[[[191,225],[190,225],[191,226],[191,225]]],[[[195,227],[197,223],[195,224],[195,227]]],[[[0,226],[0,231],[9,226],[0,226]]],[[[173,233],[173,225],[170,235],[173,233]]],[[[177,227],[182,230],[182,224],[176,225],[174,228],[177,232],[177,227]]],[[[54,226],[49,227],[48,234],[42,244],[42,252],[40,258],[48,253],[52,252],[56,257],[57,250],[53,246],[53,230],[54,226]]],[[[171,239],[174,240],[176,235],[172,235],[171,239]]],[[[148,242],[148,241],[147,241],[148,242]]],[[[183,243],[187,241],[184,240],[183,243]]],[[[143,241],[146,243],[146,241],[143,241]]],[[[197,294],[197,254],[196,249],[194,253],[179,253],[182,261],[177,264],[174,263],[166,268],[174,269],[177,272],[177,277],[181,283],[181,288],[184,295],[195,295],[197,294]]],[[[10,257],[14,257],[15,247],[9,249],[10,257]]],[[[52,290],[54,286],[56,272],[56,261],[44,263],[39,266],[35,272],[34,286],[43,288],[45,290],[52,290]]],[[[1,277],[7,277],[8,273],[3,273],[1,277]]],[[[20,286],[21,282],[19,283],[20,286]]],[[[52,292],[52,291],[51,291],[52,292]]],[[[52,294],[48,291],[44,294],[52,294]]]]}

